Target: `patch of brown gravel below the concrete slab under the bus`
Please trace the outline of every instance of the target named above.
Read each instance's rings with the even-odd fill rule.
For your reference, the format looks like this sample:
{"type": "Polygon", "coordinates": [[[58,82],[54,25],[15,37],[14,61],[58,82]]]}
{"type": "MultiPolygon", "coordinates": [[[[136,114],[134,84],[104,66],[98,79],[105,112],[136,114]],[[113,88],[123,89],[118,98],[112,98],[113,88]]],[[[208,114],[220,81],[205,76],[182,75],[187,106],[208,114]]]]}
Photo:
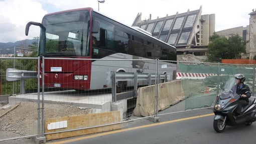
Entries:
{"type": "MultiPolygon", "coordinates": [[[[40,104],[40,106],[42,106],[42,104],[40,104]]],[[[45,103],[44,106],[45,118],[92,113],[91,108],[79,108],[67,104],[45,103]]],[[[0,109],[0,137],[11,138],[9,137],[10,134],[12,134],[12,137],[37,134],[38,103],[21,102],[12,105],[12,108],[5,110],[0,109]],[[14,108],[15,106],[17,107],[14,108]],[[31,127],[33,129],[31,129],[31,127]]],[[[40,115],[42,114],[40,113],[40,115]]]]}

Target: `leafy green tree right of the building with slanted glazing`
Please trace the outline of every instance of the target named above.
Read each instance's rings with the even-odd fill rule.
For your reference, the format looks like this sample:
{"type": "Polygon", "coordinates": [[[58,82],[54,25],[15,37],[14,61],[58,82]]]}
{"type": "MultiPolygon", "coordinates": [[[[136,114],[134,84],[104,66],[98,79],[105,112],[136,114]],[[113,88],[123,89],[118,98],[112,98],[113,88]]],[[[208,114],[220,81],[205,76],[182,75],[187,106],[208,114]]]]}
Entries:
{"type": "Polygon", "coordinates": [[[220,59],[240,59],[242,53],[246,53],[246,41],[236,34],[228,39],[214,33],[210,38],[208,45],[208,60],[211,62],[219,61],[220,59]]]}

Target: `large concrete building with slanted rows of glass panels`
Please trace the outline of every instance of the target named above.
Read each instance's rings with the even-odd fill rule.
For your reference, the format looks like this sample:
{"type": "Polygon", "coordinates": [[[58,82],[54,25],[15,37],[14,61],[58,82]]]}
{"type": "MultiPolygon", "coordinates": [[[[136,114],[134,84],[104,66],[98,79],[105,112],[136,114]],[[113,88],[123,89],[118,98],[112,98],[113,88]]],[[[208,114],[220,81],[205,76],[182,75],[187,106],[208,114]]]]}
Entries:
{"type": "Polygon", "coordinates": [[[194,54],[206,59],[209,37],[215,31],[215,14],[201,15],[199,10],[142,21],[139,13],[133,27],[140,27],[153,37],[177,48],[177,54],[194,54]]]}

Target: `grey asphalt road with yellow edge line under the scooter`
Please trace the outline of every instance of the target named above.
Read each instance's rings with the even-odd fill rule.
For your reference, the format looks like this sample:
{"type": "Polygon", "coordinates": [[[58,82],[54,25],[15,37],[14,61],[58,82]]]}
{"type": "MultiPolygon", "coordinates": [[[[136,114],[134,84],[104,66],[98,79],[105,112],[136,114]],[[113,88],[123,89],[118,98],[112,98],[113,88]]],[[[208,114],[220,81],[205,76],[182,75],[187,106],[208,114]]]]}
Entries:
{"type": "Polygon", "coordinates": [[[142,119],[122,124],[120,130],[66,138],[47,143],[256,143],[256,122],[250,126],[227,126],[224,132],[213,129],[211,109],[161,115],[160,122],[142,119]]]}

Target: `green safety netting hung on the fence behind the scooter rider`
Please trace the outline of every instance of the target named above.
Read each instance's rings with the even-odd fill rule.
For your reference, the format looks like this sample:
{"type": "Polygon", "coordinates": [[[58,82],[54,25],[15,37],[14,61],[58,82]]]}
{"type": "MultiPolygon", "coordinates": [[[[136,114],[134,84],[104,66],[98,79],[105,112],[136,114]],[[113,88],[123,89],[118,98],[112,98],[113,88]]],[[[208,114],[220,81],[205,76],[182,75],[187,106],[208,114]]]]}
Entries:
{"type": "Polygon", "coordinates": [[[253,65],[226,65],[209,63],[177,63],[177,72],[180,73],[204,73],[218,74],[207,76],[204,79],[182,79],[182,87],[185,94],[185,110],[212,106],[218,91],[224,86],[230,76],[237,73],[246,76],[245,83],[253,91],[253,65]],[[219,87],[218,87],[219,86],[219,87]]]}

